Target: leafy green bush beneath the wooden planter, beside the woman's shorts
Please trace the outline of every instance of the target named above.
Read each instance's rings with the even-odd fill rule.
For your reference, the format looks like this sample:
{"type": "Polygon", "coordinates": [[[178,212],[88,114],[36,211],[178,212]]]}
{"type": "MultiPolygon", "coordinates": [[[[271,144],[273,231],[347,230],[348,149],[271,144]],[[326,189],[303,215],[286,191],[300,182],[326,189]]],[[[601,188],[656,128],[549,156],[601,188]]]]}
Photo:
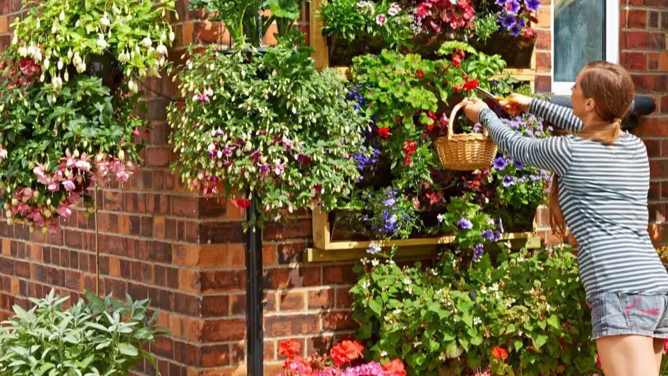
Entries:
{"type": "Polygon", "coordinates": [[[351,288],[358,338],[410,375],[585,375],[597,371],[591,321],[568,246],[535,254],[446,252],[434,269],[365,261],[351,288]],[[495,347],[508,352],[498,357],[495,347]]]}

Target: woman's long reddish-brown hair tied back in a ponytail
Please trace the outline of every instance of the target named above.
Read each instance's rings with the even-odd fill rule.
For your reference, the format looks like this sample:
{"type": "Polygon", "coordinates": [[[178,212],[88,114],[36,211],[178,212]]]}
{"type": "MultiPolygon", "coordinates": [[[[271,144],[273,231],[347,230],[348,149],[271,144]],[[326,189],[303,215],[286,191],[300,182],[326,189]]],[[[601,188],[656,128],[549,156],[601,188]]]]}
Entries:
{"type": "MultiPolygon", "coordinates": [[[[591,61],[580,72],[580,88],[585,98],[594,100],[594,110],[601,121],[587,125],[578,136],[604,145],[614,143],[621,134],[621,120],[633,102],[633,79],[620,65],[591,61]]],[[[549,205],[552,232],[565,237],[566,221],[559,205],[559,177],[556,174],[552,176],[549,205]]]]}

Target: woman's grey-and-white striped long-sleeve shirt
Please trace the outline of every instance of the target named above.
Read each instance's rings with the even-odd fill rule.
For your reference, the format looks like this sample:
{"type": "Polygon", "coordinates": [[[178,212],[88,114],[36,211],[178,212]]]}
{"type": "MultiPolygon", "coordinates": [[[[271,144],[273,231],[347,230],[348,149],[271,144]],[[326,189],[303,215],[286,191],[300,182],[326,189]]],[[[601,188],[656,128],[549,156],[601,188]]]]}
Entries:
{"type": "MultiPolygon", "coordinates": [[[[532,100],[529,111],[564,130],[582,130],[571,109],[532,100]]],[[[507,155],[559,176],[559,204],[578,240],[587,297],[668,292],[668,273],[647,232],[649,161],[642,140],[626,132],[607,146],[575,134],[530,139],[489,109],[479,120],[507,155]]]]}

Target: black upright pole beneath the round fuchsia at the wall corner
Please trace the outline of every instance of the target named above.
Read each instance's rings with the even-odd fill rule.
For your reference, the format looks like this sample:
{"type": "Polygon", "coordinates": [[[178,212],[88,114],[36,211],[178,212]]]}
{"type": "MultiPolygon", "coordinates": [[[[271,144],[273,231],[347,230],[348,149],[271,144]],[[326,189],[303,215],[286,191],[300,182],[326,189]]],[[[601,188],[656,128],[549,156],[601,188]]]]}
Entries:
{"type": "MultiPolygon", "coordinates": [[[[257,213],[257,198],[253,194],[246,209],[250,223],[257,213]]],[[[246,366],[249,376],[262,376],[264,359],[264,328],[262,325],[262,229],[253,226],[246,230],[246,366]]]]}

